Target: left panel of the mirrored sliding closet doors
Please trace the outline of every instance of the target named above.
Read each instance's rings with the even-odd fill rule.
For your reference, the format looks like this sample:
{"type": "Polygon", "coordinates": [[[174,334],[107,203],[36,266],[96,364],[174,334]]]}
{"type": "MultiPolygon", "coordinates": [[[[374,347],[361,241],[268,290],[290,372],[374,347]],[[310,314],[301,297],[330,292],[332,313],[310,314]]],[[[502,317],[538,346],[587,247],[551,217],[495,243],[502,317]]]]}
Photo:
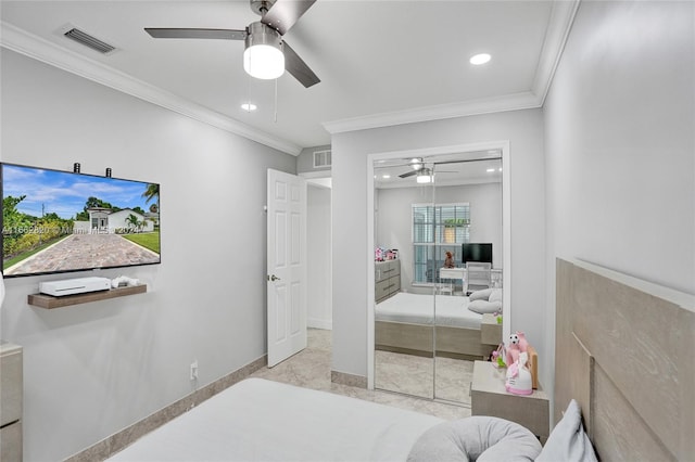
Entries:
{"type": "MultiPolygon", "coordinates": [[[[431,181],[421,180],[427,172],[424,164],[406,159],[396,168],[399,175],[404,175],[407,188],[375,191],[375,259],[379,259],[379,247],[386,252],[396,251],[397,254],[394,260],[389,260],[387,255],[386,261],[375,262],[375,387],[433,398],[433,286],[424,285],[414,291],[409,284],[413,280],[414,255],[421,254],[427,258],[433,251],[431,242],[425,242],[414,252],[410,240],[413,223],[425,222],[426,217],[420,210],[412,209],[410,205],[414,202],[431,204],[433,185],[431,181]],[[407,240],[403,235],[404,230],[407,240]],[[384,271],[389,271],[388,280],[384,280],[384,271]],[[396,271],[397,281],[394,281],[392,278],[396,271]],[[402,285],[404,281],[408,281],[407,286],[402,285]],[[395,285],[400,290],[392,292],[395,285]]],[[[388,175],[379,170],[376,172],[388,175]]],[[[418,236],[416,240],[424,239],[418,236]]],[[[415,270],[428,271],[427,268],[415,270]]]]}

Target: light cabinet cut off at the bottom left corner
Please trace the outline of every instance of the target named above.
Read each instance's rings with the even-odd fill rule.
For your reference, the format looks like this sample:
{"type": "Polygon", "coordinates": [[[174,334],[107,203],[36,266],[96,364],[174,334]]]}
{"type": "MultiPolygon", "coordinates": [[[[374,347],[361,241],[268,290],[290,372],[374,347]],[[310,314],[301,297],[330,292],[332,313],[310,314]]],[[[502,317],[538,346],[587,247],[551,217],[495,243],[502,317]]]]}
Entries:
{"type": "Polygon", "coordinates": [[[0,345],[0,460],[22,460],[22,347],[0,345]]]}

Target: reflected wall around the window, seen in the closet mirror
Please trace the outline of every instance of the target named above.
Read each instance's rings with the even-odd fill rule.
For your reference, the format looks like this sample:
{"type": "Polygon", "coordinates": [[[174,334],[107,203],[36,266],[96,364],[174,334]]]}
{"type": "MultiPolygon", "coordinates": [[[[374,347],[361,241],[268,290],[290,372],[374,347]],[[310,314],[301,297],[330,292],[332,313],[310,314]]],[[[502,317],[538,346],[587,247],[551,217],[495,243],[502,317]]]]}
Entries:
{"type": "MultiPolygon", "coordinates": [[[[387,188],[375,194],[378,207],[376,244],[399,249],[403,290],[409,291],[413,283],[412,205],[431,202],[431,187],[387,188]]],[[[435,202],[469,203],[470,242],[491,242],[493,267],[502,268],[502,183],[437,187],[435,202]]],[[[462,266],[460,261],[456,264],[462,266]]]]}

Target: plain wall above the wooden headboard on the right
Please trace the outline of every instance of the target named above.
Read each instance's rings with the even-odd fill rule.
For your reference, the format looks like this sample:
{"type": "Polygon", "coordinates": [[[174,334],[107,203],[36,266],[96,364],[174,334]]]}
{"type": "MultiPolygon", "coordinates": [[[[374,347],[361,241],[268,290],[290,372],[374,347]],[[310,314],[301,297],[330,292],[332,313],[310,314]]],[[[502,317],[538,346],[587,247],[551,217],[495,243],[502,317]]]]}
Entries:
{"type": "Polygon", "coordinates": [[[551,325],[556,257],[695,294],[694,24],[688,1],[579,8],[544,107],[551,325]]]}

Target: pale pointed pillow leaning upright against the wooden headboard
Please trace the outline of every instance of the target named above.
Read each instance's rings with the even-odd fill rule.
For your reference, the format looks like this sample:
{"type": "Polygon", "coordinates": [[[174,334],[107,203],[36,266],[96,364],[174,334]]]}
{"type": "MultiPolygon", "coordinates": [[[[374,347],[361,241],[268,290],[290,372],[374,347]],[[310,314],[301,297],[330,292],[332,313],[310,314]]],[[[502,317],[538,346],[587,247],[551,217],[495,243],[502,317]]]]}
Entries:
{"type": "Polygon", "coordinates": [[[547,437],[539,462],[577,461],[595,462],[594,447],[582,425],[582,410],[573,399],[565,415],[547,437]]]}

